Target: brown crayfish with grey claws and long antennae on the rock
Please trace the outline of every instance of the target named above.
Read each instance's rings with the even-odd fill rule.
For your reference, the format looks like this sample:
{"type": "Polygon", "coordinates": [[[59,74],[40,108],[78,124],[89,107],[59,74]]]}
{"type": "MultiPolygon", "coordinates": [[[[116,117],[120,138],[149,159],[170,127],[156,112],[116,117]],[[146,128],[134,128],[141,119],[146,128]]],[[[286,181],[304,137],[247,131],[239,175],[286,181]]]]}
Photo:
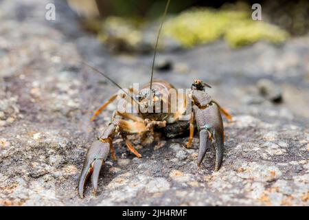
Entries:
{"type": "MultiPolygon", "coordinates": [[[[169,3],[170,1],[165,6],[163,19],[169,3]]],[[[163,19],[159,28],[159,34],[163,25],[163,19]]],[[[202,80],[194,80],[191,89],[188,89],[189,92],[185,96],[181,96],[181,98],[179,98],[177,92],[174,92],[176,89],[170,83],[165,80],[152,80],[157,43],[152,61],[150,83],[144,85],[139,91],[133,88],[125,91],[111,78],[88,65],[122,89],[124,93],[121,96],[122,100],[125,100],[124,103],[130,103],[133,109],[137,111],[127,113],[115,110],[111,117],[111,122],[102,131],[102,135],[90,146],[78,182],[78,194],[81,198],[84,194],[84,186],[90,176],[94,190],[98,189],[100,170],[108,154],[111,152],[112,159],[116,159],[113,139],[118,134],[121,135],[128,150],[136,157],[141,157],[141,154],[139,154],[128,139],[128,135],[144,134],[149,131],[158,130],[164,131],[163,133],[172,132],[171,136],[175,136],[190,130],[189,140],[186,144],[186,147],[190,148],[194,129],[197,128],[200,140],[197,158],[198,166],[201,165],[207,148],[214,146],[216,151],[215,170],[220,169],[224,151],[224,128],[221,113],[229,120],[231,120],[231,115],[206,93],[205,88],[211,87],[202,80]],[[178,103],[181,103],[178,104],[178,108],[175,107],[175,99],[178,103]]],[[[115,101],[117,96],[118,94],[111,96],[98,111],[95,111],[91,120],[95,120],[95,117],[106,109],[108,104],[115,101]]]]}

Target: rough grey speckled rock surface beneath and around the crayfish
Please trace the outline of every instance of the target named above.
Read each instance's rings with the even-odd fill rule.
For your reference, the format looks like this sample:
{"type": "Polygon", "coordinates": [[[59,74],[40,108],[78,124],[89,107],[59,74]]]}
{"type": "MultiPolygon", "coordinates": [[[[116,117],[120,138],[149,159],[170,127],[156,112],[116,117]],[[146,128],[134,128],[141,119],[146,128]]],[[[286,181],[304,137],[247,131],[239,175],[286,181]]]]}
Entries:
{"type": "Polygon", "coordinates": [[[198,168],[198,136],[137,142],[141,158],[116,138],[117,162],[108,157],[99,192],[77,193],[87,148],[108,123],[113,107],[90,122],[117,91],[77,60],[100,67],[119,85],[146,83],[152,54],[107,52],[82,31],[62,1],[56,21],[45,20],[49,1],[0,1],[0,206],[308,206],[309,37],[275,47],[260,42],[231,50],[218,42],[159,53],[173,69],[159,73],[179,88],[207,81],[233,115],[225,120],[225,155],[214,172],[214,151],[198,168]],[[260,96],[258,80],[282,89],[282,103],[260,96]]]}

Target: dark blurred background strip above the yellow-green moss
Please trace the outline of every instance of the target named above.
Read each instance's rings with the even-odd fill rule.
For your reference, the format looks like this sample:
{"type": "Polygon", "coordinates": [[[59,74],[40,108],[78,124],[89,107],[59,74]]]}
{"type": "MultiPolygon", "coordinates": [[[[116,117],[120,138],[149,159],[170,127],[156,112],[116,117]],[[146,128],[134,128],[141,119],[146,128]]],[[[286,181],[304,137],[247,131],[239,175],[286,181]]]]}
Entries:
{"type": "MultiPolygon", "coordinates": [[[[84,17],[137,17],[156,19],[162,14],[165,1],[138,0],[68,0],[73,10],[84,17]]],[[[263,5],[263,19],[279,25],[291,34],[308,32],[308,1],[175,1],[170,4],[169,12],[176,14],[188,8],[207,7],[216,9],[243,10],[251,9],[253,3],[263,5]]]]}

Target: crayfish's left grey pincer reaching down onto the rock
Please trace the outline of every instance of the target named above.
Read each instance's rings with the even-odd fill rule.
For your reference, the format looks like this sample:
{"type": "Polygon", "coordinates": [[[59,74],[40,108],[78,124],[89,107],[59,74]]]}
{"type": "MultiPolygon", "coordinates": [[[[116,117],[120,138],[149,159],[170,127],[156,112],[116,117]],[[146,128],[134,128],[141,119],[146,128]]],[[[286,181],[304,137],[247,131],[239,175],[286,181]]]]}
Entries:
{"type": "Polygon", "coordinates": [[[84,186],[91,174],[93,188],[95,192],[97,191],[100,170],[102,164],[106,161],[110,148],[111,146],[109,142],[101,142],[100,140],[93,142],[89,148],[78,181],[78,194],[81,198],[84,197],[84,186]]]}

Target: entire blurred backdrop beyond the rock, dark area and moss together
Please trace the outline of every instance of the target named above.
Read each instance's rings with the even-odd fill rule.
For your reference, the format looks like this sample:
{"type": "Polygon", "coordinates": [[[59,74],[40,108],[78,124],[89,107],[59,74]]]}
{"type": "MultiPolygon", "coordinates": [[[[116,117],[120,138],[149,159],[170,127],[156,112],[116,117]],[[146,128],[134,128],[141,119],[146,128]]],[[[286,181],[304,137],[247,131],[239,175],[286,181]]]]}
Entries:
{"type": "MultiPolygon", "coordinates": [[[[150,24],[161,16],[166,3],[148,0],[67,2],[84,20],[84,28],[98,34],[104,43],[122,44],[123,50],[150,48],[148,44],[154,40],[153,34],[149,34],[150,24]]],[[[308,8],[306,0],[172,1],[163,37],[170,37],[182,47],[221,38],[231,47],[257,41],[282,43],[288,36],[308,34],[308,8]],[[251,19],[253,3],[262,4],[263,21],[251,19]]]]}

